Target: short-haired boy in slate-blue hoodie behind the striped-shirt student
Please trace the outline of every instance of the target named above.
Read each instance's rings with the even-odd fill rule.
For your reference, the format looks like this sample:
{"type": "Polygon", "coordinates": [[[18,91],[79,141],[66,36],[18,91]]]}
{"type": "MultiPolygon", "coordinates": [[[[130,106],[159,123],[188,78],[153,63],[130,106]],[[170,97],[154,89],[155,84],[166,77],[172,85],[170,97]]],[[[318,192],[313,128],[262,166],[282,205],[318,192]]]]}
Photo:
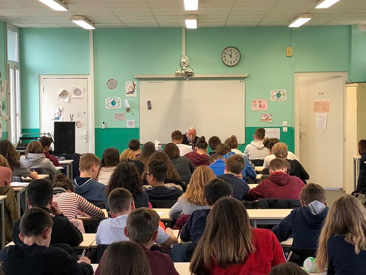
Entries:
{"type": "Polygon", "coordinates": [[[79,170],[80,177],[73,181],[75,193],[85,200],[104,208],[106,186],[95,181],[99,169],[99,158],[92,153],[85,153],[80,157],[79,170]]]}

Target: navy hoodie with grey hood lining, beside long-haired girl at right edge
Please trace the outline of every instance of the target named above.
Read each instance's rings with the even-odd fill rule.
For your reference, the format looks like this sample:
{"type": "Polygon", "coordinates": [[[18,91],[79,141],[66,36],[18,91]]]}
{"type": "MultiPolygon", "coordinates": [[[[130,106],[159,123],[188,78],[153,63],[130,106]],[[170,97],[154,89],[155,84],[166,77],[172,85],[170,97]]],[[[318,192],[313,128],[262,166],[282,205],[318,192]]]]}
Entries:
{"type": "Polygon", "coordinates": [[[316,249],[323,221],[329,208],[314,215],[309,206],[294,209],[280,224],[272,228],[279,241],[287,240],[293,236],[293,248],[316,249]]]}

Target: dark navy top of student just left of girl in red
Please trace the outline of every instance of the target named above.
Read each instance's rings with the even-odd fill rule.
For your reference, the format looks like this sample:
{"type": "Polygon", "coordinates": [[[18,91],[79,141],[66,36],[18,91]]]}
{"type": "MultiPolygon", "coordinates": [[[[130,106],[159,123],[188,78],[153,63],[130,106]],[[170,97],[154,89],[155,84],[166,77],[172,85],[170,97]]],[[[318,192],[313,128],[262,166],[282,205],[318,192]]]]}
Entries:
{"type": "Polygon", "coordinates": [[[206,228],[208,213],[209,209],[193,211],[187,224],[180,231],[180,239],[182,241],[192,241],[192,243],[196,245],[206,228]]]}

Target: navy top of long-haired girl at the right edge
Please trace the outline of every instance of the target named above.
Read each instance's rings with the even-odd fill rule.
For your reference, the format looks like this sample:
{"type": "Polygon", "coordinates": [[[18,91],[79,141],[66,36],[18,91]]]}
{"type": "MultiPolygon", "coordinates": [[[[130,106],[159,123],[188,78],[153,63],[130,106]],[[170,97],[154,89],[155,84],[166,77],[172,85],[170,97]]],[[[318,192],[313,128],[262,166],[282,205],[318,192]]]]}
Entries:
{"type": "Polygon", "coordinates": [[[365,275],[366,251],[356,254],[354,246],[345,240],[345,235],[331,236],[328,240],[327,275],[365,275]]]}

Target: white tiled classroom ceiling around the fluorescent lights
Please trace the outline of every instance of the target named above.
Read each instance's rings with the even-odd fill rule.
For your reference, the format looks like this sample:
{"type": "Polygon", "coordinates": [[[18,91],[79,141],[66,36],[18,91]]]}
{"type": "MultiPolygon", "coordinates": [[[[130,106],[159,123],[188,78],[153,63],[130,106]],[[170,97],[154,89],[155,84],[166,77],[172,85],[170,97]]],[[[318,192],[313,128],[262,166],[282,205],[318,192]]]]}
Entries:
{"type": "Polygon", "coordinates": [[[198,27],[283,26],[300,13],[312,13],[307,25],[366,24],[366,0],[341,0],[315,9],[317,0],[199,0],[185,11],[183,0],[65,0],[70,10],[56,12],[38,0],[0,0],[0,20],[19,28],[78,28],[71,15],[83,15],[97,27],[181,27],[196,14],[198,27]]]}

